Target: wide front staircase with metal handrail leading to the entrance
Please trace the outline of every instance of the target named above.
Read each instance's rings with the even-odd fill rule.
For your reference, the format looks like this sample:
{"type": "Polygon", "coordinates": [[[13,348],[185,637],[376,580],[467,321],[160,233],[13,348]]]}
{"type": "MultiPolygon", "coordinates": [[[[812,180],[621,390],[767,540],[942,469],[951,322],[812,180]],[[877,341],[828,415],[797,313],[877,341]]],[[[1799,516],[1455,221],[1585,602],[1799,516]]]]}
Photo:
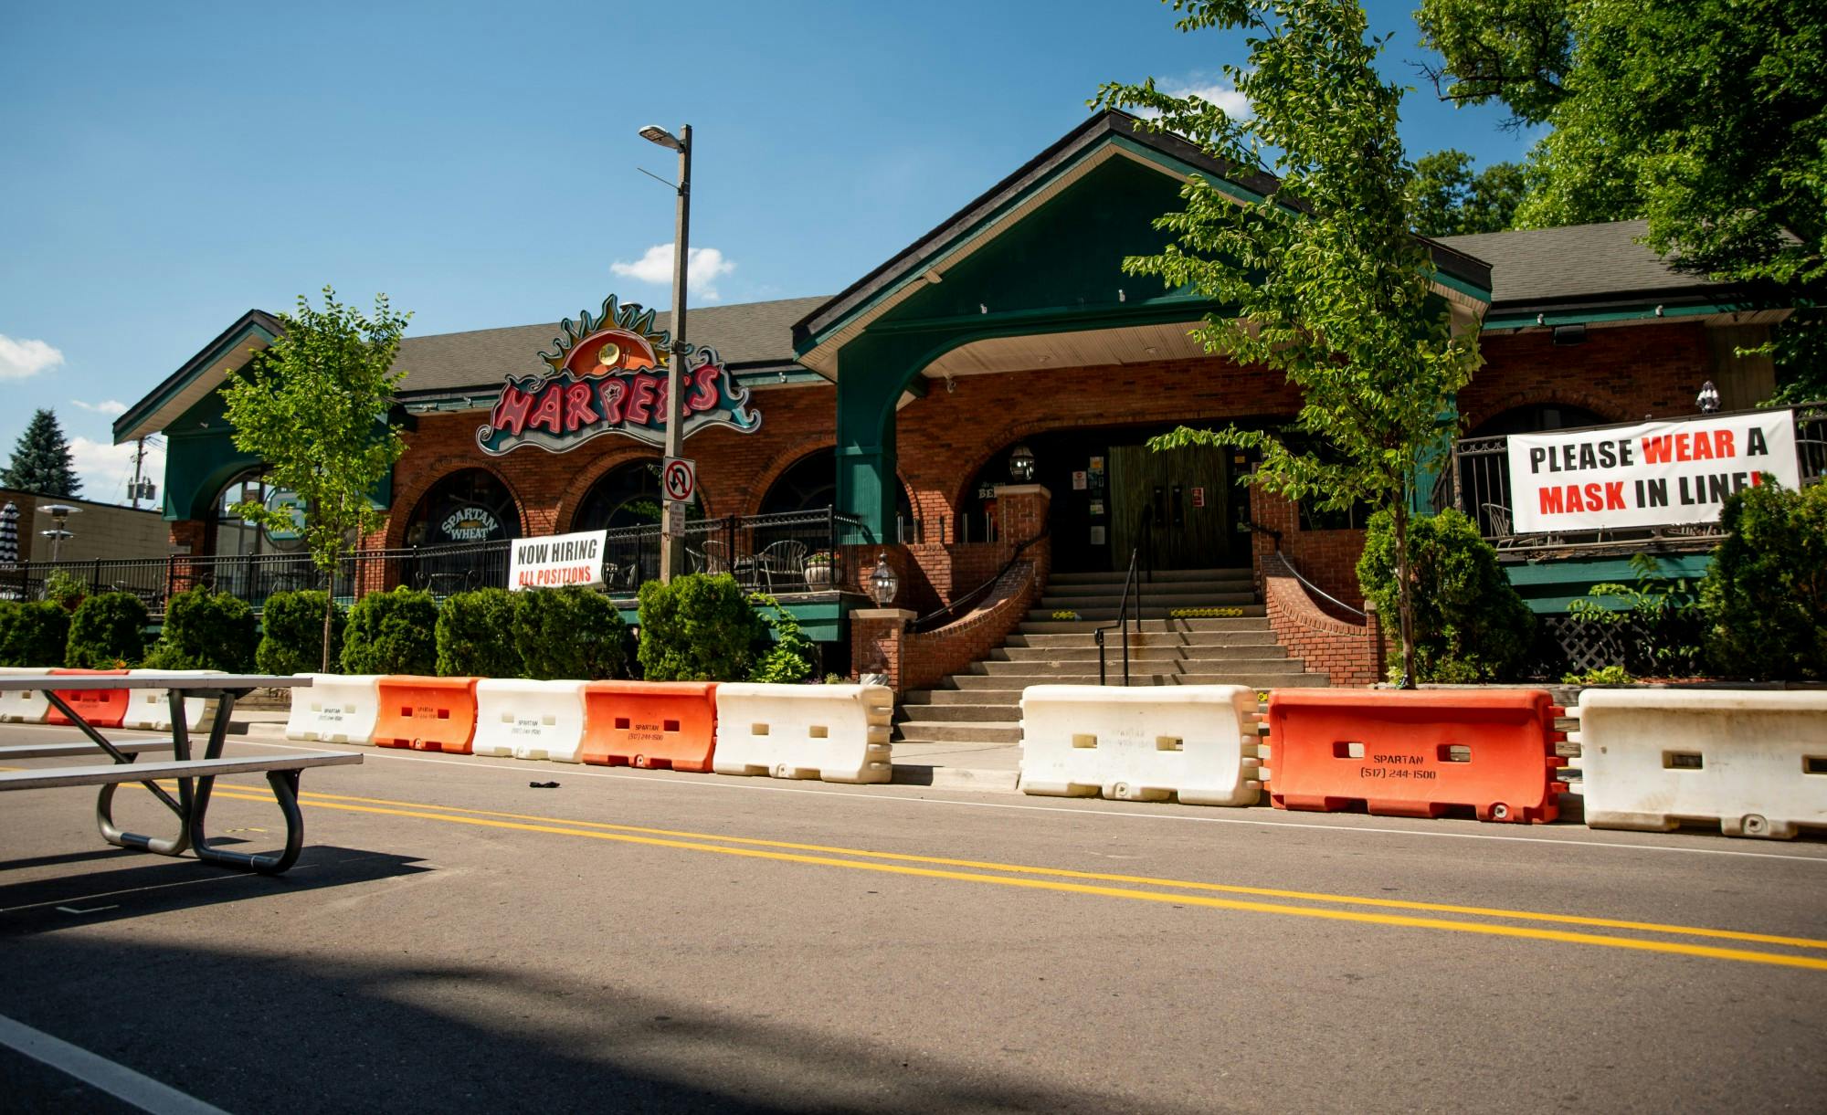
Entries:
{"type": "MultiPolygon", "coordinates": [[[[1001,647],[935,689],[914,689],[895,713],[895,737],[908,742],[1021,742],[1021,689],[1027,685],[1096,685],[1098,645],[1093,631],[1116,620],[1124,574],[1061,572],[1047,581],[1040,607],[1029,611],[1001,647]],[[1074,612],[1076,620],[1054,618],[1074,612]]],[[[1131,609],[1135,614],[1135,609],[1131,609]]],[[[1129,631],[1131,685],[1253,685],[1275,689],[1325,685],[1275,642],[1257,601],[1248,568],[1156,572],[1142,589],[1142,631],[1129,631]],[[1173,618],[1178,609],[1237,609],[1241,616],[1173,618]]],[[[1105,634],[1105,669],[1122,685],[1122,640],[1105,634]]]]}

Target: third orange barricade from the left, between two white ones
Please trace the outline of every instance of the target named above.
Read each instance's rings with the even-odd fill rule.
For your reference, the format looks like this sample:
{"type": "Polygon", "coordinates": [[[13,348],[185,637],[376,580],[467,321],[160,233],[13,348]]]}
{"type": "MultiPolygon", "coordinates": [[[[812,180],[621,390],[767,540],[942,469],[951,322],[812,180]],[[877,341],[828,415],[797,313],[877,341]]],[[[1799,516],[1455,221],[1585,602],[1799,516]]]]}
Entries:
{"type": "Polygon", "coordinates": [[[709,773],[716,748],[716,682],[590,682],[583,748],[597,766],[709,773]]]}

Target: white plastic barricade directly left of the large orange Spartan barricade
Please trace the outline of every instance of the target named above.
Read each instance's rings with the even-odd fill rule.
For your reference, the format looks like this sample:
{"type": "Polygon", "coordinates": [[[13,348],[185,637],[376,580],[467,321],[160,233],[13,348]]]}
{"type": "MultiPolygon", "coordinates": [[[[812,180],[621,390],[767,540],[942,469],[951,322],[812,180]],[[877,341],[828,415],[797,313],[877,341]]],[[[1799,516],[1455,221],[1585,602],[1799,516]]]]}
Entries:
{"type": "Polygon", "coordinates": [[[1021,791],[1253,806],[1257,718],[1248,685],[1029,685],[1021,791]]]}

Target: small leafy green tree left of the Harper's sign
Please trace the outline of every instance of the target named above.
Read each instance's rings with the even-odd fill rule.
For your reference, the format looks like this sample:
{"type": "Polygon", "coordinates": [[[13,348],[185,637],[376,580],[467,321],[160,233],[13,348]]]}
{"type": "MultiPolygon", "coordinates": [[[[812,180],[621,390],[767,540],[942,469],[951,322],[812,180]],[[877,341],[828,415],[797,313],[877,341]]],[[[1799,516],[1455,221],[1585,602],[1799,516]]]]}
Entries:
{"type": "MultiPolygon", "coordinates": [[[[285,333],[254,358],[248,375],[223,389],[234,444],[267,462],[269,481],[305,501],[305,545],[325,578],[384,514],[369,492],[385,479],[406,442],[387,424],[400,334],[411,314],[375,296],[375,316],[336,302],[323,287],[323,309],[298,296],[283,314],[285,333]]],[[[248,523],[294,530],[290,508],[259,501],[234,506],[248,523]]],[[[323,673],[331,669],[331,612],[323,612],[323,673]]]]}

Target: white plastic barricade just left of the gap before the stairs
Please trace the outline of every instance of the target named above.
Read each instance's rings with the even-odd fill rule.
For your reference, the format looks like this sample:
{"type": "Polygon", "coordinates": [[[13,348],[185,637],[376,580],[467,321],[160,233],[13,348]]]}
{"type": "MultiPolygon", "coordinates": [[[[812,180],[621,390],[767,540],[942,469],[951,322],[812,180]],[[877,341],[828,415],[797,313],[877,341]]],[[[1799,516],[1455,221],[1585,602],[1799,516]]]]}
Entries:
{"type": "Polygon", "coordinates": [[[711,770],[886,782],[893,777],[888,744],[893,715],[895,695],[886,685],[722,684],[711,770]]]}

